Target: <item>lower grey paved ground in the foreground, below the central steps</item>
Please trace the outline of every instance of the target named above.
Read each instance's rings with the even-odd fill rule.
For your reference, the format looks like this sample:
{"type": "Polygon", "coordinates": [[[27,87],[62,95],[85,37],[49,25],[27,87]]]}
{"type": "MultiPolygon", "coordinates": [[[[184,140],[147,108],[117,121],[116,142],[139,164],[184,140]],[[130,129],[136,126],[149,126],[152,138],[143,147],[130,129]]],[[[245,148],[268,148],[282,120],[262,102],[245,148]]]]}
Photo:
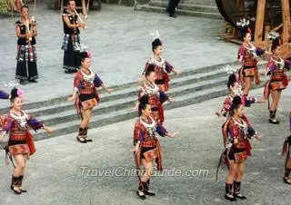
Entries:
{"type": "MultiPolygon", "coordinates": [[[[262,89],[252,92],[260,96],[262,89]]],[[[283,139],[289,134],[288,112],[290,88],[280,102],[277,117],[280,125],[267,122],[266,104],[246,108],[246,114],[263,141],[252,142],[253,156],[246,162],[242,192],[248,200],[237,204],[289,204],[290,186],[282,181],[284,158],[279,155],[283,139]]],[[[135,195],[137,179],[120,176],[122,168],[134,167],[132,132],[135,120],[120,122],[89,131],[93,143],[76,142],[75,134],[36,142],[37,152],[28,161],[24,182],[28,192],[16,196],[9,189],[11,165],[0,170],[0,204],[233,204],[224,200],[226,169],[219,171],[216,182],[216,165],[222,148],[220,126],[215,112],[224,98],[166,112],[166,127],[180,132],[179,138],[161,139],[164,166],[169,170],[201,170],[198,176],[156,176],[152,190],[156,197],[145,201],[135,195]],[[85,170],[82,177],[82,169],[85,170]],[[121,167],[121,168],[120,168],[121,167]],[[96,175],[93,170],[119,169],[119,176],[96,175]],[[85,169],[85,168],[84,168],[85,169]],[[208,175],[203,175],[208,171],[208,175]]],[[[3,159],[4,153],[0,153],[3,159]]],[[[178,172],[176,172],[178,173],[178,172]]],[[[110,172],[107,172],[110,175],[110,172]]]]}

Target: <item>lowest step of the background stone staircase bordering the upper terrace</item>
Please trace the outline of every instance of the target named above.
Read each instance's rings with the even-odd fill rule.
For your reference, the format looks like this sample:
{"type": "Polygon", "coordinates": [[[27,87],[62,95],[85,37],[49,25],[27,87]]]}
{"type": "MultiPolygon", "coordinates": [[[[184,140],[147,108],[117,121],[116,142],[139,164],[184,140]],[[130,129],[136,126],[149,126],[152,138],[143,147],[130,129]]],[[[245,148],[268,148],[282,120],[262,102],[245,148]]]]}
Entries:
{"type": "MultiPolygon", "coordinates": [[[[156,12],[156,13],[166,13],[165,7],[159,7],[154,5],[135,5],[135,10],[138,11],[146,11],[146,12],[156,12]]],[[[190,15],[202,18],[214,18],[214,19],[223,19],[223,17],[219,13],[211,13],[211,12],[199,12],[199,11],[191,11],[191,10],[176,10],[177,15],[190,15]]]]}

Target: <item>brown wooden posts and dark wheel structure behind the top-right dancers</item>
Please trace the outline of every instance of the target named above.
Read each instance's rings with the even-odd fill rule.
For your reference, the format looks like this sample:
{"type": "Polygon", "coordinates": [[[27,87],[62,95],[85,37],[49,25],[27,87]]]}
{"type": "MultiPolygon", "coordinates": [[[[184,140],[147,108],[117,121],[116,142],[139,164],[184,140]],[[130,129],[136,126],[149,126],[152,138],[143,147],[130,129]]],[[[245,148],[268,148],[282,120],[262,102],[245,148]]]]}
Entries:
{"type": "Polygon", "coordinates": [[[239,43],[236,22],[250,19],[250,28],[257,46],[270,50],[271,42],[267,34],[276,31],[280,34],[281,54],[291,57],[291,0],[216,0],[216,5],[226,23],[234,28],[232,33],[222,34],[226,40],[239,43]]]}

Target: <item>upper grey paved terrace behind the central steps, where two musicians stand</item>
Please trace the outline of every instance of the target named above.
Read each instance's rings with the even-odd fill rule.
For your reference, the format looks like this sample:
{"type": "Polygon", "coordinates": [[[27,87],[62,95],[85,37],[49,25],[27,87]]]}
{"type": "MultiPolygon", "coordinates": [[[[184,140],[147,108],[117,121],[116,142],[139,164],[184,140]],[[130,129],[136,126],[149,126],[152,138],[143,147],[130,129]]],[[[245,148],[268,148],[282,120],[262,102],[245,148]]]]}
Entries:
{"type": "MultiPolygon", "coordinates": [[[[33,9],[31,9],[33,10],[33,9]]],[[[37,56],[39,83],[24,86],[26,102],[47,100],[72,93],[73,74],[62,69],[63,23],[59,12],[37,5],[37,56]],[[37,94],[36,94],[37,93],[37,94]]],[[[17,18],[1,18],[1,82],[14,80],[17,18]]],[[[116,85],[137,80],[151,56],[152,36],[158,30],[165,42],[166,59],[180,70],[196,69],[216,63],[235,61],[237,46],[217,38],[222,21],[134,11],[132,7],[103,5],[101,12],[90,12],[87,29],[81,31],[82,43],[93,54],[92,68],[105,83],[116,85]]],[[[7,102],[0,102],[7,106],[7,102]]]]}

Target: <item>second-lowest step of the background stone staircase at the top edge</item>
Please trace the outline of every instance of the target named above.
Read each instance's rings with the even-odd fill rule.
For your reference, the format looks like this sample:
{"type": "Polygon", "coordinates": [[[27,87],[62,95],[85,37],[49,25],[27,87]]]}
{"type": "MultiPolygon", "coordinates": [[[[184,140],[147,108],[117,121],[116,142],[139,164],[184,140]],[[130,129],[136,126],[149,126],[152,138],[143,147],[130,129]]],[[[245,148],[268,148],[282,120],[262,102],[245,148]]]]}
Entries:
{"type": "MultiPolygon", "coordinates": [[[[150,1],[148,5],[166,8],[168,5],[168,2],[167,1],[150,1]]],[[[189,10],[189,11],[196,11],[196,12],[219,14],[217,6],[213,6],[213,5],[195,5],[195,4],[188,4],[188,3],[180,3],[177,6],[177,8],[178,10],[189,10]]]]}

